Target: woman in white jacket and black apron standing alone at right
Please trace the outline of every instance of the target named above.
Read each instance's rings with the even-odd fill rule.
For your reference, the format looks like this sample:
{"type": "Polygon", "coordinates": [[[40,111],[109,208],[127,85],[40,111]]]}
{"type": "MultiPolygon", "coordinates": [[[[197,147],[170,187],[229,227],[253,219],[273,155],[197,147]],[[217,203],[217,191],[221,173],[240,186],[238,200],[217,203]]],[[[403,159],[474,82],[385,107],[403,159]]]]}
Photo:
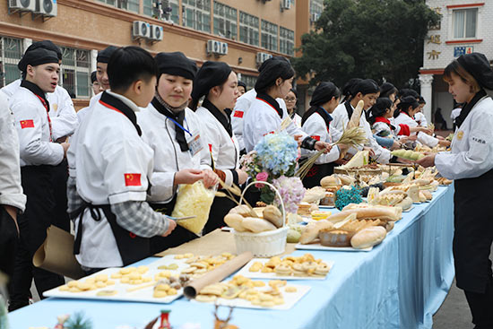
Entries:
{"type": "Polygon", "coordinates": [[[454,264],[457,287],[464,290],[475,328],[493,328],[493,275],[489,253],[493,242],[493,70],[486,56],[460,56],[446,66],[444,80],[458,103],[452,150],[418,160],[437,166],[454,179],[454,264]]]}

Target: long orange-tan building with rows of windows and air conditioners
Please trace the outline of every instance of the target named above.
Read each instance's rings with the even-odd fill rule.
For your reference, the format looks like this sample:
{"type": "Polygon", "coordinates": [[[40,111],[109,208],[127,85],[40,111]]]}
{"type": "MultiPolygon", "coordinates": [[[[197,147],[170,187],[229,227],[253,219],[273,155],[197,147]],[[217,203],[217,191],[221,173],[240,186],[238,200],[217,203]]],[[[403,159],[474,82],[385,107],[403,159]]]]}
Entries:
{"type": "Polygon", "coordinates": [[[32,41],[50,39],[63,50],[60,84],[75,108],[87,106],[98,50],[108,45],[182,51],[198,65],[221,60],[250,89],[266,58],[295,56],[322,10],[323,0],[7,0],[0,87],[19,78],[17,63],[32,41]]]}

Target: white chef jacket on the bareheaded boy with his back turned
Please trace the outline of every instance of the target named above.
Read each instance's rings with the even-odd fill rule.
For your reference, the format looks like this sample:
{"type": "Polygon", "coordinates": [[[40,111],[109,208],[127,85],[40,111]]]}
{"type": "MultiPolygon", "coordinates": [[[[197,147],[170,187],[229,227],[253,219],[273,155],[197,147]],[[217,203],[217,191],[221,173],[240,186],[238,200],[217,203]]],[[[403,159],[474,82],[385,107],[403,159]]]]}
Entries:
{"type": "MultiPolygon", "coordinates": [[[[131,100],[110,93],[135,112],[131,100]]],[[[153,152],[143,142],[132,122],[117,110],[96,103],[77,131],[75,163],[77,193],[92,204],[145,201],[148,177],[153,168],[153,152]]],[[[108,220],[100,221],[86,209],[82,218],[82,241],[77,261],[90,268],[123,265],[108,220]],[[104,250],[104,252],[100,252],[104,250]]],[[[78,218],[74,222],[78,228],[78,218]]]]}

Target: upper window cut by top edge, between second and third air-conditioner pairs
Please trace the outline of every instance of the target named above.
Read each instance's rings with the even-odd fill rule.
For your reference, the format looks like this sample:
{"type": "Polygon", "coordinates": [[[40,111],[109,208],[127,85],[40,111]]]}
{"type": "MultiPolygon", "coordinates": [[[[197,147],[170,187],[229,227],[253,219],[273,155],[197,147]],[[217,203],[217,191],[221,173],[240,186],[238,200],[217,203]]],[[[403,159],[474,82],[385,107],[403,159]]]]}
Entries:
{"type": "Polygon", "coordinates": [[[194,30],[211,32],[211,2],[209,0],[182,0],[182,24],[194,30]]]}

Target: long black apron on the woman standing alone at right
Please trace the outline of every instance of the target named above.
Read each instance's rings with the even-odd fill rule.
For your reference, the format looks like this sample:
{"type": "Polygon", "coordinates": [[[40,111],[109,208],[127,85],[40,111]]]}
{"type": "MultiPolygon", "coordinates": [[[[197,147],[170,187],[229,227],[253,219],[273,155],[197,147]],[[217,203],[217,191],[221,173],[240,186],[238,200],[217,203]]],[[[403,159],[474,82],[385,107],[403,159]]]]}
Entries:
{"type": "Polygon", "coordinates": [[[454,181],[454,263],[457,287],[485,293],[491,278],[493,242],[493,169],[476,178],[454,181]]]}

